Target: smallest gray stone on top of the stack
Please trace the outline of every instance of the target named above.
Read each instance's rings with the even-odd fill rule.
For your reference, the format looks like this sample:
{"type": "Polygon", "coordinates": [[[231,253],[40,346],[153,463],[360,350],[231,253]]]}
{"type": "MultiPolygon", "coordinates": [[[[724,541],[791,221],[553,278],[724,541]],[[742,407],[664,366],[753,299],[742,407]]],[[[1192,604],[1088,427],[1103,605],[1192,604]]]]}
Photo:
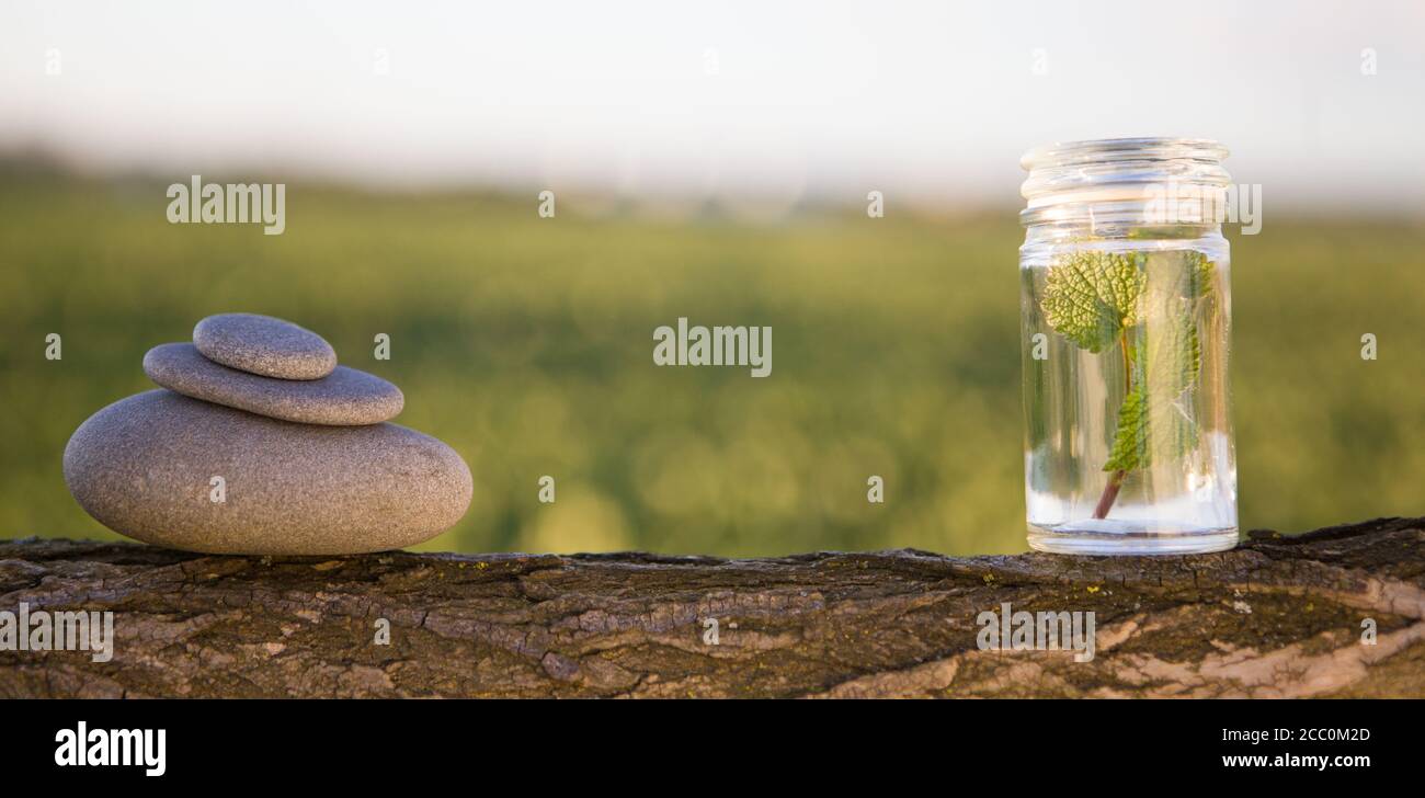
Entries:
{"type": "Polygon", "coordinates": [[[321,335],[256,314],[208,316],[192,328],[192,342],[215,363],[278,379],[321,379],[336,368],[321,335]]]}

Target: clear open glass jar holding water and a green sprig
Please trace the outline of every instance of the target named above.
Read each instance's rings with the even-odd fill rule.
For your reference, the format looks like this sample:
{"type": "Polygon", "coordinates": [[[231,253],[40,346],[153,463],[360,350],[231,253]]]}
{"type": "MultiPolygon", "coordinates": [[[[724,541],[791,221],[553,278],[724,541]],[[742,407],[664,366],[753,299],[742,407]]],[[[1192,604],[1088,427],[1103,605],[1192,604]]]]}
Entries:
{"type": "Polygon", "coordinates": [[[1029,544],[1237,544],[1227,150],[1121,138],[1027,152],[1019,251],[1029,544]]]}

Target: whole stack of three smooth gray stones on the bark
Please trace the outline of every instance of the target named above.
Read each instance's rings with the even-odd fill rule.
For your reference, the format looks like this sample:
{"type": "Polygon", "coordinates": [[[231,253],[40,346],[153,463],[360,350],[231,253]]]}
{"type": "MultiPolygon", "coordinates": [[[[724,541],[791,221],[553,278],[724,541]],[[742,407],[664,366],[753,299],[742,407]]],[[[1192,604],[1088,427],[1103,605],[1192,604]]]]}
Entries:
{"type": "Polygon", "coordinates": [[[151,349],[162,388],[94,413],[64,449],[70,492],[104,526],[190,551],[355,554],[465,514],[465,460],[389,423],[400,390],[338,366],[315,332],[225,314],[192,339],[151,349]]]}

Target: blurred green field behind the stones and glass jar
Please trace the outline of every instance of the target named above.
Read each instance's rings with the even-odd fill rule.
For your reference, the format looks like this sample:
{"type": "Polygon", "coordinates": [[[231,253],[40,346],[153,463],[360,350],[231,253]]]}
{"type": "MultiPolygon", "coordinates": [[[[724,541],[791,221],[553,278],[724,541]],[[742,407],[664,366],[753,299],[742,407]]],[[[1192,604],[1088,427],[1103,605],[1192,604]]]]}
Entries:
{"type": "MultiPolygon", "coordinates": [[[[469,514],[423,549],[1025,550],[1013,208],[540,219],[533,192],[289,181],[286,234],[264,237],[167,224],[157,182],[0,181],[0,537],[114,537],[64,489],[66,440],[151,388],[148,348],[249,311],[393,380],[398,422],[470,463],[469,514]],[[771,325],[772,376],[656,368],[678,316],[771,325]]],[[[1425,514],[1425,228],[1268,207],[1230,237],[1243,527],[1425,514]]]]}

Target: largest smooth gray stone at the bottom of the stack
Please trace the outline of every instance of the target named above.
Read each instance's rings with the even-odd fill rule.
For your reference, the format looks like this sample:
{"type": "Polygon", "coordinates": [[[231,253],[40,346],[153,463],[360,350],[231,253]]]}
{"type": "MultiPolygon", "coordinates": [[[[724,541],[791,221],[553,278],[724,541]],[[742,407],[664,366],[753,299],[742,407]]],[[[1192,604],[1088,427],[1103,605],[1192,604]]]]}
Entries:
{"type": "Polygon", "coordinates": [[[80,425],[64,482],[114,532],[212,554],[412,546],[459,522],[472,496],[465,460],[403,426],[295,425],[168,390],[80,425]]]}

